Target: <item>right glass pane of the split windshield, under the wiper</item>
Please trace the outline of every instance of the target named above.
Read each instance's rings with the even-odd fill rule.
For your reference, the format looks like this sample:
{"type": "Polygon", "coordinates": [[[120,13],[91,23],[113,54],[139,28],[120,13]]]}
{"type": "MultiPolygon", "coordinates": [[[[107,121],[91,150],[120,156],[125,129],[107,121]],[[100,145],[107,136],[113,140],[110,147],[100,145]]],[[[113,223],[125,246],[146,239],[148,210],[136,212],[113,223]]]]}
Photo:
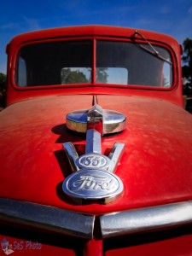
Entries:
{"type": "MultiPolygon", "coordinates": [[[[155,46],[165,58],[164,61],[143,49],[141,45],[97,41],[96,82],[171,87],[172,64],[167,62],[171,61],[169,52],[155,46]]],[[[148,44],[143,45],[149,48],[148,44]]]]}

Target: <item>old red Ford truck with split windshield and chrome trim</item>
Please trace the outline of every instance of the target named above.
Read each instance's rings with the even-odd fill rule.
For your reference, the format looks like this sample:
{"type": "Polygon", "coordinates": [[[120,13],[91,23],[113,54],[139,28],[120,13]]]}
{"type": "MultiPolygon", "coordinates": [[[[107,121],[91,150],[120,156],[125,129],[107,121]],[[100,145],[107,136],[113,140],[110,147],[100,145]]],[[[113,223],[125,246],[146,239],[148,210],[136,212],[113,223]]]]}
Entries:
{"type": "Polygon", "coordinates": [[[0,255],[192,255],[177,40],[72,26],[11,40],[0,255]]]}

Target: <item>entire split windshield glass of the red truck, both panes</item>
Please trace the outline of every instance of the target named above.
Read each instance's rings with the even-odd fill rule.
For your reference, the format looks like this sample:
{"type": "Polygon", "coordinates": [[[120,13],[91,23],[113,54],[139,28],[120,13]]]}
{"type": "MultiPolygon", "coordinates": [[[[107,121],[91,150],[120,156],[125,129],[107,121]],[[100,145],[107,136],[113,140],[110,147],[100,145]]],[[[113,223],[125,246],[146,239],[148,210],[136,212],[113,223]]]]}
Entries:
{"type": "Polygon", "coordinates": [[[96,40],[95,56],[93,49],[92,40],[28,45],[20,50],[16,83],[21,87],[93,81],[96,84],[172,86],[172,58],[167,49],[155,45],[163,59],[151,54],[148,44],[96,40]],[[96,63],[94,68],[93,63],[96,63]]]}

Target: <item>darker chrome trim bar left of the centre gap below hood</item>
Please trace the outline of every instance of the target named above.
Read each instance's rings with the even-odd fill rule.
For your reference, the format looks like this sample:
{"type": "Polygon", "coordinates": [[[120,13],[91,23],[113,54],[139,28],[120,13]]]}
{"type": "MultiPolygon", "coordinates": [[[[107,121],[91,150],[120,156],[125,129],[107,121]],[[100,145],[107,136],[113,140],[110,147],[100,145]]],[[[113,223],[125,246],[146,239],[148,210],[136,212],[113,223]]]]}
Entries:
{"type": "Polygon", "coordinates": [[[93,237],[95,216],[0,198],[0,220],[85,239],[93,237]]]}

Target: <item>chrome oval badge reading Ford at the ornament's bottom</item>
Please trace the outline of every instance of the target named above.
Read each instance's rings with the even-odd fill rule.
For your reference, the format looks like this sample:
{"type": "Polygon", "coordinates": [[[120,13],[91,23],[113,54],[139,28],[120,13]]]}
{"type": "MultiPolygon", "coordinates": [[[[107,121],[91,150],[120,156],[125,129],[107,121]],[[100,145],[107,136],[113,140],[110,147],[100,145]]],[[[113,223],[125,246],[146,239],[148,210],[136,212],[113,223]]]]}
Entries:
{"type": "Polygon", "coordinates": [[[73,172],[62,184],[63,191],[81,199],[107,199],[123,191],[123,183],[116,175],[98,170],[73,172]]]}

